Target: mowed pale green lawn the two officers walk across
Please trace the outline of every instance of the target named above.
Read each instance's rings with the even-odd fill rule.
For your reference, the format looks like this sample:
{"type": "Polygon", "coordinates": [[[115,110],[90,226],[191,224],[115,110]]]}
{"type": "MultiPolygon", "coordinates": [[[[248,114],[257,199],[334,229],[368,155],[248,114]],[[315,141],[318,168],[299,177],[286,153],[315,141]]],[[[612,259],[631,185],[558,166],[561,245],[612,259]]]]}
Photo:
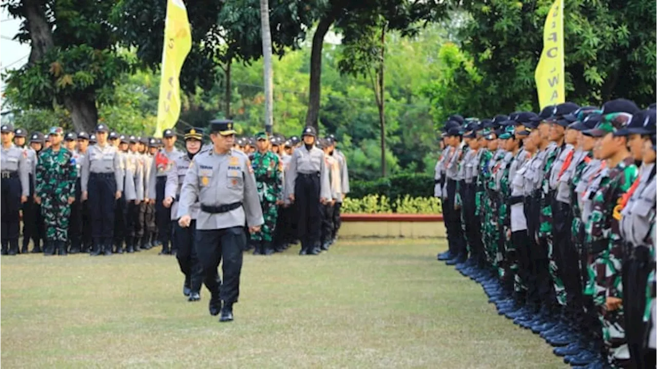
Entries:
{"type": "Polygon", "coordinates": [[[0,257],[0,368],[565,368],[436,261],[444,240],[246,255],[235,321],[174,257],[0,257]]]}

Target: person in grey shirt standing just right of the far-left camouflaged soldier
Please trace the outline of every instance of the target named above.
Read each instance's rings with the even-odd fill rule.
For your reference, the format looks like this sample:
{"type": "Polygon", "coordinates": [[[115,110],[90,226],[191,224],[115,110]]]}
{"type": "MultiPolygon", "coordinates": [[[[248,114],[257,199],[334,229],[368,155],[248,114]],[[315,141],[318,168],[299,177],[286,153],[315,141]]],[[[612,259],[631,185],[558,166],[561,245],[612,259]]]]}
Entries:
{"type": "Polygon", "coordinates": [[[114,211],[123,192],[123,170],[116,147],[107,141],[108,128],[96,126],[97,144],[87,149],[82,162],[82,200],[89,200],[93,250],[91,255],[112,255],[114,211]]]}

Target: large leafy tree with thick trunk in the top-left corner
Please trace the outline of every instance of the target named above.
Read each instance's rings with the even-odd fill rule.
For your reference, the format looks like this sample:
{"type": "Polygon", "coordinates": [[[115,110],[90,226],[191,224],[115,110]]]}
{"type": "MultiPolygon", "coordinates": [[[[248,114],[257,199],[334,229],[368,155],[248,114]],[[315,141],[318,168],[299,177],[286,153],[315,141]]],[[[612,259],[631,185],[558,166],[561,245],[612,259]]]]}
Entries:
{"type": "MultiPolygon", "coordinates": [[[[107,22],[115,1],[0,0],[23,20],[15,38],[30,43],[28,64],[9,72],[7,95],[20,108],[70,112],[75,129],[97,123],[97,94],[129,69],[129,55],[107,22]]],[[[106,96],[112,94],[106,93],[106,96]]]]}

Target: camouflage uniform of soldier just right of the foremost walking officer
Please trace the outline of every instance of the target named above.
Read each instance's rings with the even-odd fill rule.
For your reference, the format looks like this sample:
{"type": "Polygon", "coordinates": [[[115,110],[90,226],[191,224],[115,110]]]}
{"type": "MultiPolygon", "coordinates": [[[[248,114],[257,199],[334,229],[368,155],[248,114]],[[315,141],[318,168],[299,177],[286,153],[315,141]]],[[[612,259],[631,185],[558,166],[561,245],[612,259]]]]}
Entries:
{"type": "Polygon", "coordinates": [[[256,176],[258,196],[265,219],[260,232],[252,234],[251,239],[271,242],[278,217],[276,202],[283,199],[283,163],[277,154],[267,151],[264,154],[255,152],[251,165],[256,176]]]}

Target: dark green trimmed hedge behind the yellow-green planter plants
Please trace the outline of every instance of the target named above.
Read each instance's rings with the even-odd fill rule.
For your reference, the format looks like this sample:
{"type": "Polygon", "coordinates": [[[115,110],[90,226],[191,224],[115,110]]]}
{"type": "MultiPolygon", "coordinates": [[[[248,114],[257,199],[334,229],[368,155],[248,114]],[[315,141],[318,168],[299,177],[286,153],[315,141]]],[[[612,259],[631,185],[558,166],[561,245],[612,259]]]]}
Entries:
{"type": "Polygon", "coordinates": [[[376,181],[352,181],[350,198],[364,198],[367,195],[386,196],[393,206],[397,199],[408,195],[411,198],[434,196],[434,177],[424,173],[391,175],[376,181]]]}

